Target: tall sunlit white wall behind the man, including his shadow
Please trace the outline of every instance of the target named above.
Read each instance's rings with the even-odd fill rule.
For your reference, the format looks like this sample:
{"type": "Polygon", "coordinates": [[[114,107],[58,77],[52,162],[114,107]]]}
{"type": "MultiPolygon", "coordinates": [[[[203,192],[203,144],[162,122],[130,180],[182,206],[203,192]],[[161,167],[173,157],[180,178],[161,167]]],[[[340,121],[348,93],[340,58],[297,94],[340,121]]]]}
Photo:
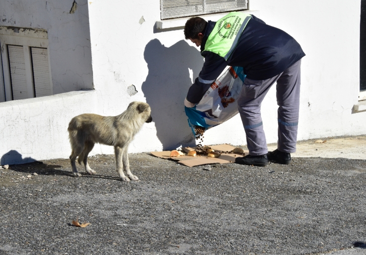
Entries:
{"type": "MultiPolygon", "coordinates": [[[[307,55],[302,60],[298,140],[365,134],[366,112],[351,114],[359,91],[360,1],[350,0],[345,6],[340,0],[257,0],[250,2],[250,9],[259,11],[268,25],[292,35],[307,55]]],[[[171,149],[190,140],[181,102],[192,82],[189,70],[195,79],[203,63],[182,30],[154,29],[159,12],[157,0],[89,1],[94,82],[97,90],[110,91],[101,108],[121,97],[125,105],[136,99],[150,103],[156,130],[135,139],[136,145],[148,143],[150,150],[171,149]],[[101,14],[107,15],[101,19],[101,14]],[[139,24],[141,17],[145,22],[139,24]],[[139,91],[132,97],[126,94],[130,84],[139,91]]],[[[267,142],[277,142],[274,88],[262,104],[262,115],[267,142]]],[[[209,130],[205,139],[208,144],[245,144],[240,117],[209,130]]]]}

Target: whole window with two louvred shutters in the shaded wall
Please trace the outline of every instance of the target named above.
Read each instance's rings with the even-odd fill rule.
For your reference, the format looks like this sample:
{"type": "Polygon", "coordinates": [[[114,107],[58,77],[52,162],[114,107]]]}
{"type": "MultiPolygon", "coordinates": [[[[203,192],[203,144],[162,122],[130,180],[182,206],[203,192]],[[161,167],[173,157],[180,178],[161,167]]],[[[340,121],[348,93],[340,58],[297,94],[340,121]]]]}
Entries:
{"type": "Polygon", "coordinates": [[[0,101],[53,94],[46,31],[0,27],[0,44],[4,73],[0,101]]]}

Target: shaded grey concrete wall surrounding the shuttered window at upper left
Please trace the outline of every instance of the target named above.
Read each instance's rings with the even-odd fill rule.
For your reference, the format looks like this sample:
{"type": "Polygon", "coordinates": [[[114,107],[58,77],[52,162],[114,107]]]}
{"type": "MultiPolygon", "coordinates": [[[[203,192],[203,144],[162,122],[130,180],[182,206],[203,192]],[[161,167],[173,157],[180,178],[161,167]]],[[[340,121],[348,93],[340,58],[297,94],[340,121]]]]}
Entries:
{"type": "Polygon", "coordinates": [[[53,93],[93,89],[87,1],[0,1],[0,26],[48,32],[53,93]]]}

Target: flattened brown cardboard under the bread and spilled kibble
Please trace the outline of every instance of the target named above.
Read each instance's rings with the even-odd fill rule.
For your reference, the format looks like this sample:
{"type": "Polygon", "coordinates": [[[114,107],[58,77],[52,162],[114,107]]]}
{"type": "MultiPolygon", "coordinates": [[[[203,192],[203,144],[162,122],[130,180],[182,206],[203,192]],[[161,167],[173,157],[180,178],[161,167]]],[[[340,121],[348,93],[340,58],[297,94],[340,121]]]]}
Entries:
{"type": "MultiPolygon", "coordinates": [[[[234,148],[231,145],[228,144],[222,144],[222,145],[213,145],[210,146],[210,148],[214,149],[218,152],[230,152],[234,148]]],[[[191,148],[191,147],[185,147],[182,148],[182,150],[185,153],[188,153],[189,151],[196,150],[197,147],[191,148]]],[[[178,161],[179,164],[188,166],[188,167],[195,167],[195,166],[201,166],[201,165],[208,165],[208,164],[226,164],[226,163],[232,163],[235,162],[235,158],[237,157],[243,157],[245,155],[248,155],[248,151],[244,151],[244,154],[227,154],[222,153],[220,157],[218,158],[209,158],[206,156],[199,156],[199,157],[191,157],[191,156],[180,156],[180,157],[169,157],[170,151],[164,151],[164,152],[151,152],[152,155],[155,157],[159,157],[161,159],[172,159],[175,161],[178,161]]]]}

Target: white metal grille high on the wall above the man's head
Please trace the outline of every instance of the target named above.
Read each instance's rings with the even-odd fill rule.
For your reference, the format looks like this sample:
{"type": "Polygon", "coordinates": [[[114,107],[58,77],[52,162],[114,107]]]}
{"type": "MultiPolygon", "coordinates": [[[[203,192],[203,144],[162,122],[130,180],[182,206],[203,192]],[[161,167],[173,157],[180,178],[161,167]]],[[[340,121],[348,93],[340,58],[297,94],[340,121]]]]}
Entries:
{"type": "Polygon", "coordinates": [[[160,0],[161,20],[247,9],[248,0],[160,0]]]}

